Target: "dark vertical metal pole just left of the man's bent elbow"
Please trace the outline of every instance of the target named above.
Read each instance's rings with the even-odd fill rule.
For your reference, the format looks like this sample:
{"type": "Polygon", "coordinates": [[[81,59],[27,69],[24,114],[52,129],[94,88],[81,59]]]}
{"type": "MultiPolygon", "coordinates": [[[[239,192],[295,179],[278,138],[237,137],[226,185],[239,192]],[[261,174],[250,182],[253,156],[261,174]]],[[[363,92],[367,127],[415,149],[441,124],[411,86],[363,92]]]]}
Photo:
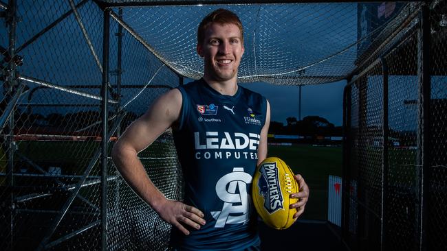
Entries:
{"type": "Polygon", "coordinates": [[[104,10],[104,26],[102,34],[102,141],[101,141],[101,250],[107,250],[107,98],[109,88],[109,40],[110,16],[109,9],[104,10]]]}

